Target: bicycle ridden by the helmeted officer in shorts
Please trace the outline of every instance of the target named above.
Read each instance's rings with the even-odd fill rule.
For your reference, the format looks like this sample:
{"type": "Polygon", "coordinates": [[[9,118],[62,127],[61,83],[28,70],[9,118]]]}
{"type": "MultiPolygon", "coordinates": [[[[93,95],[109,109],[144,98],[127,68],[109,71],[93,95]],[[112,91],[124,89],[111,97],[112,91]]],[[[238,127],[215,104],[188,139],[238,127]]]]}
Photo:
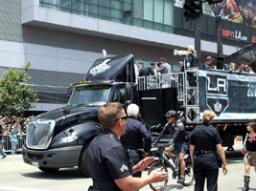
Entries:
{"type": "MultiPolygon", "coordinates": [[[[151,164],[148,175],[151,174],[151,171],[159,170],[159,169],[162,169],[162,171],[165,171],[168,173],[168,168],[171,168],[173,171],[173,176],[172,176],[173,179],[175,180],[176,178],[178,178],[179,174],[180,174],[179,173],[178,153],[175,151],[173,152],[173,155],[175,154],[175,160],[173,160],[172,158],[168,159],[167,156],[169,156],[170,154],[165,152],[165,146],[158,146],[156,148],[152,148],[151,152],[153,152],[153,151],[157,152],[158,159],[156,159],[151,164]]],[[[188,153],[189,153],[189,151],[188,151],[188,153]]],[[[186,163],[186,168],[185,168],[185,172],[184,172],[185,180],[182,182],[182,184],[184,186],[190,186],[194,182],[195,177],[194,177],[192,163],[191,163],[189,154],[185,155],[185,163],[186,163]]],[[[151,189],[155,190],[155,191],[163,190],[166,187],[168,180],[169,180],[169,177],[165,181],[150,183],[151,189]]]]}

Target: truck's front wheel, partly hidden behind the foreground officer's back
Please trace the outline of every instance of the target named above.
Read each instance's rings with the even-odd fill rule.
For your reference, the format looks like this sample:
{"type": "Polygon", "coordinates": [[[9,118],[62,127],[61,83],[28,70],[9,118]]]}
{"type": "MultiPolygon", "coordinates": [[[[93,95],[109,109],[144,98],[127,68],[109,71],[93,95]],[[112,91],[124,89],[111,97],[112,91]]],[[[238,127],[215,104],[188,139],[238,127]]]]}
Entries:
{"type": "Polygon", "coordinates": [[[87,157],[88,147],[89,147],[89,143],[82,148],[80,163],[79,163],[79,169],[80,169],[81,175],[85,177],[90,177],[89,161],[87,157]]]}

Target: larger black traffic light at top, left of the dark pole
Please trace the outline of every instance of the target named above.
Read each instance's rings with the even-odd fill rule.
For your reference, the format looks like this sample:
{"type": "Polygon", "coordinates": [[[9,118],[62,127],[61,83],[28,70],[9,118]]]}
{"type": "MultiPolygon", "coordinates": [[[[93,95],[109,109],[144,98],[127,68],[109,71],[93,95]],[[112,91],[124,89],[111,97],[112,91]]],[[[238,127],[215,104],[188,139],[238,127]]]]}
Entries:
{"type": "Polygon", "coordinates": [[[185,0],[183,9],[186,21],[198,19],[202,15],[202,0],[185,0]]]}

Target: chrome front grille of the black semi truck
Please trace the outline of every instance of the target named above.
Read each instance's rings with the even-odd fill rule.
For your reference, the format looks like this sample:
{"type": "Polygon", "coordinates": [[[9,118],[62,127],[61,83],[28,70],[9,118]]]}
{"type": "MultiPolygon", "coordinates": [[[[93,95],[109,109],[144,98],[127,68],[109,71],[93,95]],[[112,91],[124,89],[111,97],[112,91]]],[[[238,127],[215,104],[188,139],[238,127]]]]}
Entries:
{"type": "Polygon", "coordinates": [[[47,149],[53,138],[54,127],[54,120],[31,121],[27,128],[27,147],[31,149],[47,149]]]}

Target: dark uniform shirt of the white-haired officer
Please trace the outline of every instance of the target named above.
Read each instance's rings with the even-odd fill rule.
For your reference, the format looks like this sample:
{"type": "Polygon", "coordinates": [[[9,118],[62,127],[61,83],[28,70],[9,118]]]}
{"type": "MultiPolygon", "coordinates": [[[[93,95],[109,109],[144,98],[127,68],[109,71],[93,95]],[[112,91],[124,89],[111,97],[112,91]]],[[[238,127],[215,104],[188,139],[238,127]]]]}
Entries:
{"type": "Polygon", "coordinates": [[[151,134],[135,117],[128,117],[126,133],[120,141],[127,149],[144,149],[147,153],[151,150],[151,134]]]}

